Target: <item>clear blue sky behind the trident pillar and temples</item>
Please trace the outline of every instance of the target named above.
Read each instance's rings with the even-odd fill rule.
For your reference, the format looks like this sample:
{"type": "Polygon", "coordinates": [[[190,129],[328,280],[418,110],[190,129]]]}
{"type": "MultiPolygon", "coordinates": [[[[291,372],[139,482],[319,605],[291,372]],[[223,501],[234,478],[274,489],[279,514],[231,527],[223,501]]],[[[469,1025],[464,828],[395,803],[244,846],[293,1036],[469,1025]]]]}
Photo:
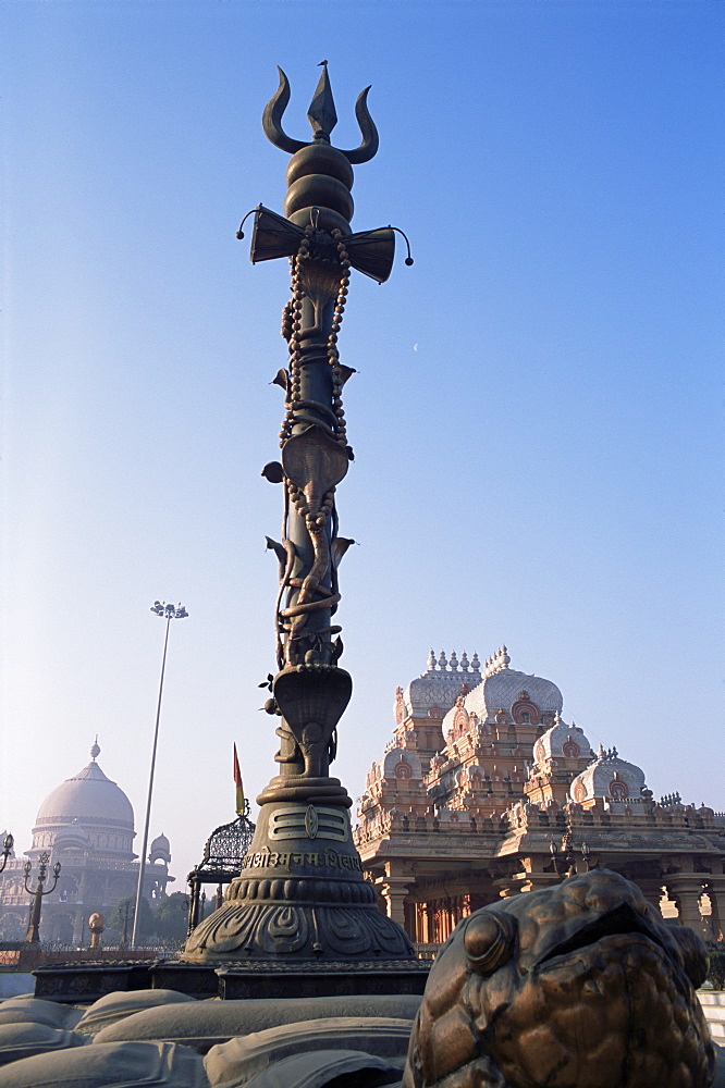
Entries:
{"type": "MultiPolygon", "coordinates": [[[[431,646],[554,680],[564,717],[659,796],[725,808],[723,20],[715,2],[8,2],[0,825],[29,845],[87,762],[140,827],[162,648],[183,601],[152,831],[183,877],[274,771],[284,262],[234,231],[281,210],[260,128],[323,58],[340,146],[369,103],[354,227],[416,263],[354,279],[341,334],[360,546],[341,571],[355,681],[335,765],[382,754],[431,646]]],[[[0,828],[1,829],[1,828],[0,828]]]]}

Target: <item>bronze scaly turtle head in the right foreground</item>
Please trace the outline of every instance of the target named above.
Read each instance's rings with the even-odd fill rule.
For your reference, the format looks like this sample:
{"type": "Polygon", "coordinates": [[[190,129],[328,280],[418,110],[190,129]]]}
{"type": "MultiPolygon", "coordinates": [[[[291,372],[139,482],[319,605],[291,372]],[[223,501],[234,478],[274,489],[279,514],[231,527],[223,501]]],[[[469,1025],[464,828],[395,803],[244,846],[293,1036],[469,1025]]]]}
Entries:
{"type": "Polygon", "coordinates": [[[465,918],[430,974],[403,1088],[708,1088],[705,948],[597,869],[465,918]]]}

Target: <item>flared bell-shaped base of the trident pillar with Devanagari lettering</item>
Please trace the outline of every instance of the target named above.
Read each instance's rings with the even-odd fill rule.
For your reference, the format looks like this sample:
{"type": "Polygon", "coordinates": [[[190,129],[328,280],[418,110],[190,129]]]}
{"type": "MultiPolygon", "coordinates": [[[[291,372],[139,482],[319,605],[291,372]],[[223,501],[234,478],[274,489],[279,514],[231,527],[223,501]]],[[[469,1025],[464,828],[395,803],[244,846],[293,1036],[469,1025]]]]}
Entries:
{"type": "MultiPolygon", "coordinates": [[[[333,778],[285,778],[258,799],[257,830],[222,906],[186,941],[182,962],[415,960],[380,912],[353,845],[347,792],[333,778]]],[[[309,967],[309,963],[307,965],[309,967]]]]}

